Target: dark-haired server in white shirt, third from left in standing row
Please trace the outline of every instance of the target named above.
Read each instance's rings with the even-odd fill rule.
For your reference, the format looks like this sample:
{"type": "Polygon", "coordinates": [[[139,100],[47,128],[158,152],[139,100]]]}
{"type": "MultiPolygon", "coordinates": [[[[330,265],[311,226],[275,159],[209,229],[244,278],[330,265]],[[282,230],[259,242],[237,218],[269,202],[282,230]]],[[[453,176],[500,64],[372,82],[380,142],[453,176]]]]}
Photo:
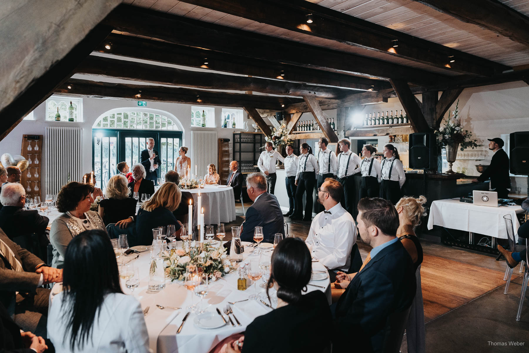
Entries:
{"type": "Polygon", "coordinates": [[[308,143],[302,143],[299,147],[301,155],[299,156],[299,167],[296,175],[296,206],[293,216],[290,216],[291,220],[312,220],[312,193],[314,185],[316,184],[316,176],[320,173],[320,167],[316,162],[316,157],[312,154],[312,148],[308,146],[308,143]],[[303,194],[305,196],[305,216],[303,216],[303,194]]]}

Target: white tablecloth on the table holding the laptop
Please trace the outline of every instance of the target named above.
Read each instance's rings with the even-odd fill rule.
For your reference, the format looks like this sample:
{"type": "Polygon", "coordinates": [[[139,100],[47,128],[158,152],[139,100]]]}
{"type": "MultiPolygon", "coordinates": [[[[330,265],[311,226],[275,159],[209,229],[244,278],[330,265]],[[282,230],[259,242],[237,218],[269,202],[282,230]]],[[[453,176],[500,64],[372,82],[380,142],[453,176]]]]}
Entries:
{"type": "Polygon", "coordinates": [[[430,207],[428,229],[432,229],[434,225],[440,225],[445,228],[508,239],[503,216],[510,214],[514,232],[517,233],[520,224],[516,214],[524,212],[518,205],[489,207],[460,202],[451,198],[436,200],[430,207]]]}

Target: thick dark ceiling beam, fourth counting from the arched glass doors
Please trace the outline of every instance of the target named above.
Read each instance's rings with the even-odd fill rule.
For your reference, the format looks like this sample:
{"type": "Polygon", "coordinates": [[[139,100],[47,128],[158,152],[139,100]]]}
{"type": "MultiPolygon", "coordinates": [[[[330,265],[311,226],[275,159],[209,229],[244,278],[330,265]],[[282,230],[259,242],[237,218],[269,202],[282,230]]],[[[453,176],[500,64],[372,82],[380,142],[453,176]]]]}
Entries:
{"type": "Polygon", "coordinates": [[[444,75],[421,69],[130,5],[118,6],[103,20],[103,23],[113,26],[118,31],[144,35],[171,43],[200,47],[229,55],[242,55],[301,67],[325,69],[336,73],[345,72],[382,78],[394,77],[423,85],[450,80],[444,75]]]}

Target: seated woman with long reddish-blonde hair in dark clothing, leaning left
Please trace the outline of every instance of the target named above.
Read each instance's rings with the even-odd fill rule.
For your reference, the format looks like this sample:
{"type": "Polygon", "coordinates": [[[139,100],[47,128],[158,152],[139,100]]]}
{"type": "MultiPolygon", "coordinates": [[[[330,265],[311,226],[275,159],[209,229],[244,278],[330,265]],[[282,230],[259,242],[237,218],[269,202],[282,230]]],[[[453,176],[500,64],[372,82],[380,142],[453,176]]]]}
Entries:
{"type": "MultiPolygon", "coordinates": [[[[172,214],[178,208],[182,193],[175,183],[163,183],[150,200],[145,201],[136,216],[136,239],[134,245],[151,245],[152,229],[174,224],[177,240],[182,224],[172,214]]],[[[129,240],[130,242],[130,240],[129,240]]],[[[130,245],[130,244],[129,244],[130,245]]]]}

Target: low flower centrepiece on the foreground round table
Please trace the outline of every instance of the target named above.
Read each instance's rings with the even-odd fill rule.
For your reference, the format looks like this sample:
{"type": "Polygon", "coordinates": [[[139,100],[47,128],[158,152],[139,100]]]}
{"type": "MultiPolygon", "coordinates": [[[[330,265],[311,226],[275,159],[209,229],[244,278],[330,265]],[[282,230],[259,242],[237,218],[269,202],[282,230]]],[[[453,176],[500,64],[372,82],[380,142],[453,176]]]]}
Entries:
{"type": "Polygon", "coordinates": [[[201,249],[197,245],[197,241],[191,241],[187,249],[172,249],[170,254],[164,253],[165,274],[171,278],[171,281],[184,280],[187,266],[191,266],[193,270],[195,266],[198,268],[198,273],[206,273],[213,281],[234,269],[224,247],[216,248],[204,243],[201,249]]]}

